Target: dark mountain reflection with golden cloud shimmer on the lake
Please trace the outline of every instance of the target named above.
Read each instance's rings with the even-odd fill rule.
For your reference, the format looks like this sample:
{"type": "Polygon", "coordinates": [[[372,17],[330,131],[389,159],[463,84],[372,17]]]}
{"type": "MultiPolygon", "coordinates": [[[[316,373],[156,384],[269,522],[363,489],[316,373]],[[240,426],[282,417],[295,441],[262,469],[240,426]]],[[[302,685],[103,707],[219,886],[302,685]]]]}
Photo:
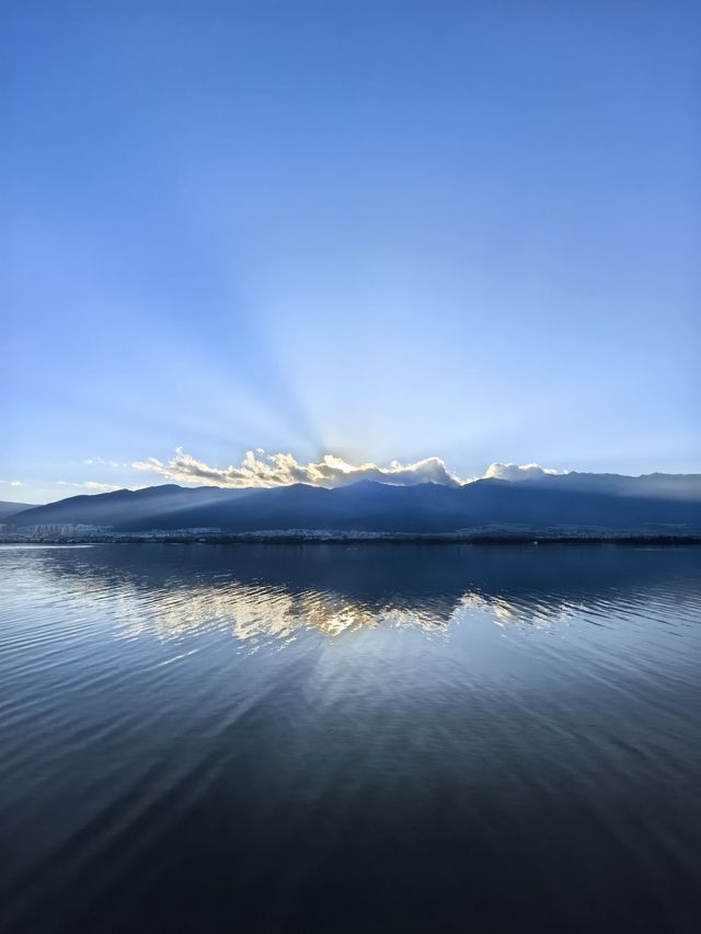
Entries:
{"type": "Polygon", "coordinates": [[[125,635],[218,630],[281,643],[300,630],[440,633],[475,611],[552,625],[666,586],[679,598],[698,566],[694,550],[616,545],[97,545],[34,556],[45,579],[60,578],[61,599],[99,601],[125,635]]]}

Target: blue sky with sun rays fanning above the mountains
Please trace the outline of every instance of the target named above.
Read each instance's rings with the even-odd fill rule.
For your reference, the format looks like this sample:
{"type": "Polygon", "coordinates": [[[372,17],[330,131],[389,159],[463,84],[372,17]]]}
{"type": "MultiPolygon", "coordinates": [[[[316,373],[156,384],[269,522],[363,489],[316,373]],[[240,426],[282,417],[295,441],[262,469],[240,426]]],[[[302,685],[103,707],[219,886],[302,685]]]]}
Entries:
{"type": "Polygon", "coordinates": [[[0,499],[701,471],[699,4],[0,22],[0,499]]]}

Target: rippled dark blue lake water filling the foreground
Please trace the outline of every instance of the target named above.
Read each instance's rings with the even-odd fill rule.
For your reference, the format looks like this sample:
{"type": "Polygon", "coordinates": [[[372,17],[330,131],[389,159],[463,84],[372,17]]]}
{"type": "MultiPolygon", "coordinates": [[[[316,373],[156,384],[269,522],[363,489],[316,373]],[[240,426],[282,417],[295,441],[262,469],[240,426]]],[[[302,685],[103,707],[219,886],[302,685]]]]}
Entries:
{"type": "Polygon", "coordinates": [[[701,930],[701,547],[0,547],[3,932],[701,930]]]}

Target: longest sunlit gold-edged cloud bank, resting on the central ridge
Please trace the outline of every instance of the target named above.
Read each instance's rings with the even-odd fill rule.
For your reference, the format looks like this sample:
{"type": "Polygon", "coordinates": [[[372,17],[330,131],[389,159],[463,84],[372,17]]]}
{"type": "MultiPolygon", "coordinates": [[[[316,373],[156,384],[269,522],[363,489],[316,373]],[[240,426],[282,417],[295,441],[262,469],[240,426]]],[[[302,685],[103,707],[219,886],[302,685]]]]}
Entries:
{"type": "Polygon", "coordinates": [[[425,458],[411,464],[392,461],[389,466],[374,463],[349,464],[334,454],[324,454],[319,461],[299,463],[291,454],[258,457],[246,451],[238,465],[216,468],[186,454],[182,448],[168,463],[149,458],[135,461],[131,466],[140,471],[153,471],[177,483],[198,483],[205,486],[289,486],[307,483],[311,486],[346,486],[359,480],[375,480],[397,486],[413,486],[417,483],[440,483],[458,486],[462,481],[452,474],[440,458],[425,458]]]}

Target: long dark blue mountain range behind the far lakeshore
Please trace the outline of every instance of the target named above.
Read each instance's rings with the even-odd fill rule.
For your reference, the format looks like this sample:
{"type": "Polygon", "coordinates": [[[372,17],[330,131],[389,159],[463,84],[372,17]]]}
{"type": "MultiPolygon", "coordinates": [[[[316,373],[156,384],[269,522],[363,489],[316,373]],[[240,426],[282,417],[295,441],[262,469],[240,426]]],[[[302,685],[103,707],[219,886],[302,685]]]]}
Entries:
{"type": "Polygon", "coordinates": [[[218,528],[230,532],[330,530],[441,533],[490,527],[701,532],[701,475],[542,475],[464,486],[360,481],[335,489],[176,485],[73,496],[13,515],[19,527],[85,523],[118,532],[218,528]]]}

